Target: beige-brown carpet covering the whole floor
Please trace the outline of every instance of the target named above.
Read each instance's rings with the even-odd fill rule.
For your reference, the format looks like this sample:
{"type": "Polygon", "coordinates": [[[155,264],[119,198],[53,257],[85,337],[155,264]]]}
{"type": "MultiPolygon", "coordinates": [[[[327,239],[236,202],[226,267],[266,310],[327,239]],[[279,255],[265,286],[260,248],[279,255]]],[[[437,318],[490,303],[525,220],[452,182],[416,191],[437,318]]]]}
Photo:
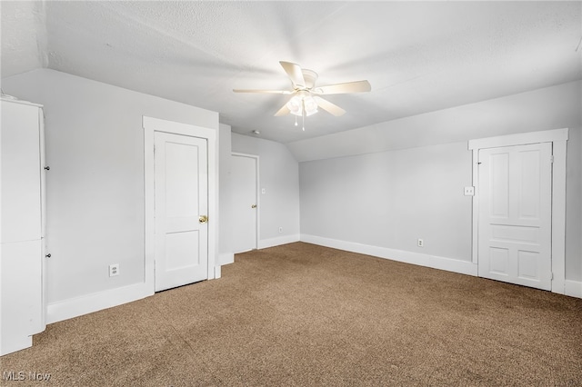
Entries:
{"type": "Polygon", "coordinates": [[[0,363],[3,386],[581,386],[582,299],[291,243],[0,363]]]}

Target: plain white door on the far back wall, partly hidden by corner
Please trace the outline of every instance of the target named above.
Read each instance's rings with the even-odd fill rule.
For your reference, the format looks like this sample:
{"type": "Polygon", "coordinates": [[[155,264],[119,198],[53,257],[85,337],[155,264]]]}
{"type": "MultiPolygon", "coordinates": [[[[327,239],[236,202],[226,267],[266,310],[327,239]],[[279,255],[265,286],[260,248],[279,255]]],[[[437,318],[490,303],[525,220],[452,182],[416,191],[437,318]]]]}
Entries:
{"type": "Polygon", "coordinates": [[[233,198],[233,251],[256,249],[257,225],[257,159],[240,154],[232,155],[231,178],[235,187],[233,198]]]}

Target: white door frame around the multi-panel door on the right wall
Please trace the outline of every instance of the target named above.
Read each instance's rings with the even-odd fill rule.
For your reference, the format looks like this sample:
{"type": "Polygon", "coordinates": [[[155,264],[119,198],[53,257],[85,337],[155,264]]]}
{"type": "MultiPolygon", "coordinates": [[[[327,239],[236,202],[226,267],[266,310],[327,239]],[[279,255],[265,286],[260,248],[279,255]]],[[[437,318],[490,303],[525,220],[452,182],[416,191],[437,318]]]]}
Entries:
{"type": "Polygon", "coordinates": [[[566,293],[566,154],[568,129],[554,129],[523,134],[508,134],[469,140],[468,149],[473,151],[473,223],[472,223],[472,262],[478,264],[478,156],[479,150],[502,146],[551,143],[552,166],[552,292],[566,293]]]}

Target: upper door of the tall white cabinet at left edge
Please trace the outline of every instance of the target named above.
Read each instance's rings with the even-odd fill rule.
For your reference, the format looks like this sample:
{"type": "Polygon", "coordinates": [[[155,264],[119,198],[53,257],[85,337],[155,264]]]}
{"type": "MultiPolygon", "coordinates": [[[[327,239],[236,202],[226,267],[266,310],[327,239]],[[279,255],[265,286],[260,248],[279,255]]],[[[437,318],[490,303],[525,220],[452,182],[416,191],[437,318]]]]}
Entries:
{"type": "Polygon", "coordinates": [[[0,243],[41,238],[38,107],[2,101],[0,243]]]}

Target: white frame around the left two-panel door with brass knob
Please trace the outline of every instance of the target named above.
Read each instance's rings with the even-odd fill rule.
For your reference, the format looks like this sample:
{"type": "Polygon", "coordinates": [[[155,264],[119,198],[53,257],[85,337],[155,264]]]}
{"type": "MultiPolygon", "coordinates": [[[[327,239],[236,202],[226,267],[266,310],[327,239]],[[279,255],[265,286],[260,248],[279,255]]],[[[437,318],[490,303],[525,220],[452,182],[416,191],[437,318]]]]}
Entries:
{"type": "Polygon", "coordinates": [[[216,265],[218,252],[218,144],[216,130],[194,124],[182,124],[175,121],[143,116],[144,128],[144,223],[145,223],[145,267],[144,282],[151,293],[156,291],[156,181],[154,174],[154,133],[182,134],[204,138],[208,149],[208,280],[220,277],[220,267],[216,265]]]}

